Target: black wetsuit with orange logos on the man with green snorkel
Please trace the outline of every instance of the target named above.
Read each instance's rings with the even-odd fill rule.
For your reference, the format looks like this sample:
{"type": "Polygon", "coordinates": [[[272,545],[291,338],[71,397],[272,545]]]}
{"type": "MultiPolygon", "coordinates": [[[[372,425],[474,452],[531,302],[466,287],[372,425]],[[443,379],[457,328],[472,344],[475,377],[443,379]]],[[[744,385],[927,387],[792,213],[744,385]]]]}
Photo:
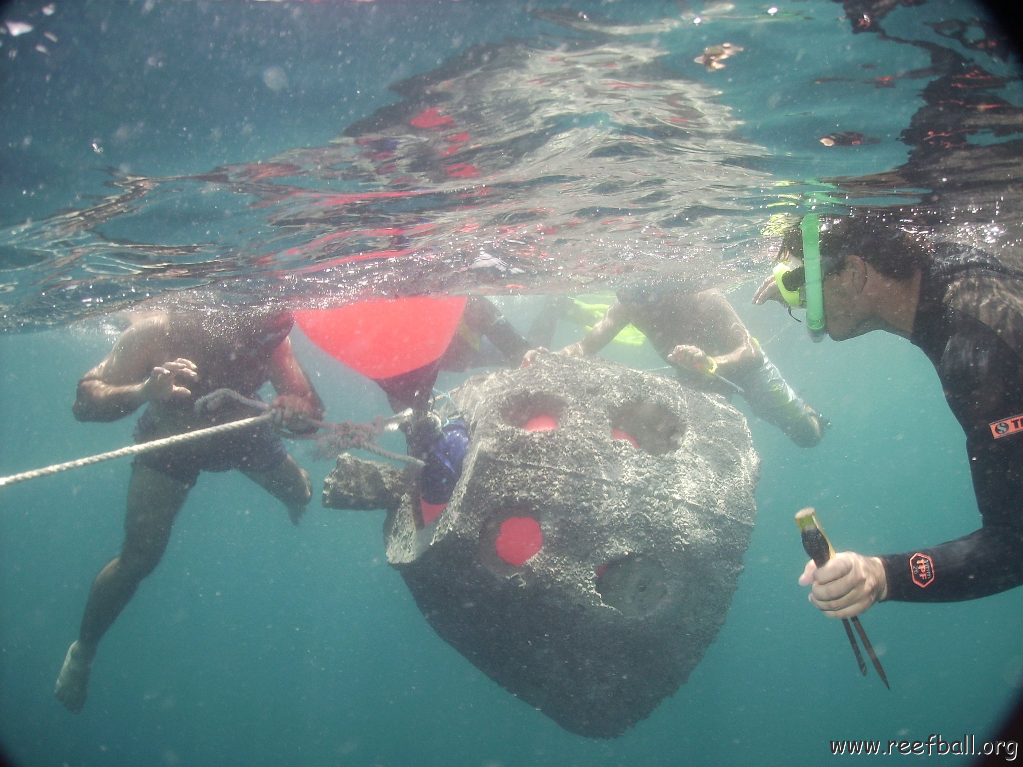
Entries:
{"type": "Polygon", "coordinates": [[[944,244],[925,269],[910,341],[963,431],[982,527],[882,556],[888,599],[954,601],[1023,584],[1023,273],[944,244]]]}

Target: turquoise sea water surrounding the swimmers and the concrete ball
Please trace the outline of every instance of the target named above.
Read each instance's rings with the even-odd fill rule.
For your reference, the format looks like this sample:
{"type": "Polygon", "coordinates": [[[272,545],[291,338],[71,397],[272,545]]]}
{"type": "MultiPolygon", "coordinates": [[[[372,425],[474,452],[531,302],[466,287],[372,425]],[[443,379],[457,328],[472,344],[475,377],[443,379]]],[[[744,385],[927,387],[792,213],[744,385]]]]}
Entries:
{"type": "MultiPolygon", "coordinates": [[[[5,37],[0,47],[2,53],[21,46],[4,71],[5,102],[17,104],[0,120],[8,146],[3,157],[10,160],[0,176],[3,222],[10,229],[4,242],[21,251],[31,244],[47,256],[33,266],[7,264],[2,273],[12,297],[5,307],[7,326],[33,328],[0,335],[0,391],[7,403],[0,410],[3,473],[131,441],[133,418],[79,423],[71,414],[78,378],[106,354],[120,327],[97,311],[95,301],[82,301],[81,286],[116,307],[126,306],[124,294],[131,287],[141,290],[143,277],[145,288],[165,301],[177,300],[172,288],[188,280],[205,285],[203,300],[237,300],[248,295],[238,286],[241,280],[217,284],[209,271],[196,276],[204,260],[213,263],[216,251],[237,246],[252,255],[279,256],[284,240],[291,246],[341,226],[319,222],[280,233],[280,226],[267,223],[266,209],[249,206],[248,197],[241,205],[212,182],[176,186],[167,179],[255,163],[295,147],[327,146],[346,127],[399,100],[388,86],[436,71],[471,45],[565,33],[516,3],[56,3],[52,16],[41,13],[42,5],[9,6],[7,17],[30,18],[37,29],[5,37]],[[43,30],[57,42],[38,37],[43,30]],[[27,40],[32,45],[23,45],[27,40]],[[182,40],[189,45],[181,45],[182,40]],[[34,51],[36,44],[51,52],[34,51]],[[214,53],[206,53],[210,50],[214,53]],[[49,63],[61,55],[65,64],[79,66],[76,73],[49,63]],[[147,65],[153,56],[157,63],[147,65]],[[269,66],[284,71],[292,87],[275,91],[266,85],[269,66]],[[133,133],[131,127],[139,123],[133,133]],[[119,134],[124,126],[129,129],[119,134]],[[32,140],[26,143],[28,135],[32,140]],[[101,154],[91,145],[96,138],[101,154]],[[103,255],[104,240],[92,229],[76,232],[70,244],[60,239],[71,236],[66,231],[58,234],[39,223],[13,232],[27,219],[38,222],[63,207],[87,210],[95,202],[89,195],[109,194],[103,186],[110,178],[107,166],[120,167],[122,174],[145,174],[166,191],[114,219],[103,236],[131,233],[151,244],[214,243],[180,257],[192,265],[192,271],[182,269],[184,279],[163,267],[150,270],[155,276],[125,270],[131,261],[127,251],[103,255]],[[217,190],[224,196],[218,197],[217,190]],[[192,228],[183,229],[183,222],[192,228]],[[61,279],[81,290],[48,303],[46,290],[61,279]],[[66,322],[71,319],[77,321],[66,322]]],[[[862,63],[904,73],[930,61],[919,49],[851,35],[848,21],[839,18],[841,6],[834,3],[780,5],[791,16],[776,21],[763,20],[766,4],[737,5],[713,22],[694,25],[692,13],[675,3],[573,3],[630,24],[681,19],[683,26],[669,32],[636,32],[614,45],[631,45],[634,50],[626,52],[636,56],[656,47],[669,70],[721,91],[710,100],[728,111],[708,107],[707,114],[730,122],[726,131],[707,139],[703,151],[711,155],[710,167],[677,159],[694,178],[706,174],[706,185],[672,187],[669,199],[682,200],[683,211],[701,205],[739,211],[732,223],[722,223],[723,214],[715,214],[706,219],[709,223],[693,227],[698,238],[713,231],[716,251],[691,253],[692,232],[673,231],[672,243],[664,245],[667,257],[654,245],[635,253],[618,250],[628,233],[598,235],[580,226],[594,251],[610,251],[593,258],[639,271],[674,271],[696,263],[719,283],[738,285],[729,298],[753,334],[793,386],[834,423],[818,447],[800,450],[776,430],[751,419],[763,461],[757,526],[726,622],[688,682],[620,738],[589,740],[568,733],[434,634],[387,565],[383,512],[332,511],[314,501],[295,529],[283,509],[243,477],[207,475],[179,515],[159,569],[104,638],[86,708],[69,714],[54,701],[52,685],[91,579],[121,541],[129,471],[122,460],[0,491],[0,743],[16,764],[815,765],[833,759],[832,739],[926,739],[931,733],[945,740],[964,733],[981,739],[991,733],[1023,678],[1023,592],[950,605],[891,603],[871,610],[863,623],[891,680],[888,691],[873,673],[858,676],[839,624],[821,618],[796,584],[804,555],[792,514],[804,505],[817,508],[840,548],[864,552],[901,551],[975,528],[964,438],[937,376],[918,350],[894,336],[875,333],[842,345],[811,345],[802,327],[776,307],[748,305],[757,269],[769,261],[769,254],[753,244],[769,213],[764,206],[776,199],[775,192],[764,190],[777,180],[862,177],[905,163],[909,147],[898,134],[922,107],[921,89],[936,73],[901,79],[891,89],[838,83],[815,90],[814,78],[878,76],[862,63]],[[721,71],[693,64],[705,46],[724,40],[746,50],[721,71]],[[797,62],[802,63],[797,67],[797,62]],[[765,83],[776,83],[773,100],[765,83]],[[837,131],[858,131],[881,141],[822,148],[817,138],[837,131]],[[730,143],[721,143],[725,140],[730,143]],[[718,199],[707,197],[714,187],[713,169],[727,174],[736,166],[752,170],[728,176],[730,185],[718,190],[718,199]],[[722,247],[740,253],[739,267],[721,266],[722,247]],[[690,261],[682,259],[686,255],[690,261]]],[[[974,12],[965,3],[931,3],[899,8],[885,25],[892,35],[919,32],[930,42],[954,46],[923,21],[974,12]]],[[[955,50],[1003,74],[1016,65],[1012,59],[955,50]]],[[[276,81],[271,77],[270,82],[276,81]]],[[[1007,84],[1000,96],[1010,98],[1014,88],[1007,84]]],[[[584,106],[599,111],[594,103],[584,106]]],[[[498,146],[500,134],[492,128],[483,135],[498,146]]],[[[505,156],[522,163],[513,171],[523,172],[527,153],[502,146],[505,156]]],[[[548,161],[557,160],[553,149],[544,151],[548,161]]],[[[487,162],[496,163],[500,154],[494,150],[487,162]]],[[[655,153],[640,170],[670,178],[675,166],[666,168],[666,160],[655,153]]],[[[314,178],[307,171],[315,162],[298,163],[296,185],[354,184],[364,190],[374,181],[393,180],[379,169],[356,181],[314,178]]],[[[573,163],[564,162],[564,169],[573,163]]],[[[620,181],[610,166],[585,170],[586,178],[574,188],[581,195],[604,194],[593,187],[609,178],[620,181]]],[[[553,187],[539,175],[526,177],[532,182],[526,183],[527,196],[551,208],[544,222],[562,225],[569,204],[548,191],[553,187]]],[[[449,181],[434,182],[439,197],[455,193],[445,186],[449,181]]],[[[509,189],[495,194],[513,209],[522,204],[509,189]]],[[[616,194],[607,192],[622,204],[624,197],[616,194]]],[[[270,208],[284,215],[303,205],[270,208]]],[[[486,223],[494,224],[499,211],[496,202],[492,209],[489,205],[477,200],[472,210],[485,222],[480,236],[489,237],[488,247],[494,250],[501,245],[486,223]]],[[[434,221],[440,231],[430,235],[433,239],[413,242],[422,250],[465,242],[452,240],[468,214],[450,199],[414,211],[393,207],[362,213],[365,218],[356,223],[367,231],[381,222],[408,227],[415,220],[434,221]]],[[[384,250],[369,235],[362,241],[367,249],[384,250]]],[[[1006,245],[1006,239],[998,244],[1006,245]]],[[[134,250],[134,257],[141,251],[134,250]]],[[[515,263],[510,246],[500,253],[515,263]]],[[[255,259],[240,261],[227,273],[262,285],[260,280],[294,270],[294,258],[281,257],[271,268],[255,259]]],[[[313,256],[298,258],[319,263],[313,256]]],[[[565,286],[559,281],[563,277],[531,269],[536,263],[523,257],[523,273],[515,277],[526,285],[523,292],[565,286]]],[[[437,272],[450,268],[452,279],[462,280],[456,286],[510,292],[501,289],[506,277],[474,272],[465,277],[456,266],[395,274],[430,285],[437,272]]],[[[563,266],[576,277],[592,278],[571,259],[563,266]]],[[[370,289],[375,279],[388,284],[395,278],[390,268],[383,263],[372,271],[330,272],[335,281],[329,285],[300,280],[287,295],[308,290],[318,301],[341,300],[353,284],[370,289]]],[[[525,328],[535,301],[502,301],[510,320],[525,328]]],[[[554,346],[577,336],[577,328],[563,323],[554,346]]],[[[330,420],[367,420],[388,412],[374,385],[325,356],[300,331],[293,339],[330,420]]],[[[649,349],[612,349],[608,356],[638,367],[662,364],[649,349]]],[[[458,379],[447,375],[441,386],[458,379]]],[[[400,449],[400,442],[395,447],[400,449]]],[[[294,453],[310,470],[314,488],[321,486],[330,462],[315,460],[303,444],[294,453]]]]}

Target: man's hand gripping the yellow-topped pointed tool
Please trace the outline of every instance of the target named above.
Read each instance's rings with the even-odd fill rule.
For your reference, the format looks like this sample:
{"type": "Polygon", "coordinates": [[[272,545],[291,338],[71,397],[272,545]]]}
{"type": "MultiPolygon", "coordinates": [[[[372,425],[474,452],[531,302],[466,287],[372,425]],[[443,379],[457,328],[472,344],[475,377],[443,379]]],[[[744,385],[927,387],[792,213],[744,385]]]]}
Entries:
{"type": "Polygon", "coordinates": [[[829,618],[858,616],[888,594],[881,559],[853,551],[835,554],[822,568],[807,562],[799,585],[811,584],[810,601],[829,618]]]}

